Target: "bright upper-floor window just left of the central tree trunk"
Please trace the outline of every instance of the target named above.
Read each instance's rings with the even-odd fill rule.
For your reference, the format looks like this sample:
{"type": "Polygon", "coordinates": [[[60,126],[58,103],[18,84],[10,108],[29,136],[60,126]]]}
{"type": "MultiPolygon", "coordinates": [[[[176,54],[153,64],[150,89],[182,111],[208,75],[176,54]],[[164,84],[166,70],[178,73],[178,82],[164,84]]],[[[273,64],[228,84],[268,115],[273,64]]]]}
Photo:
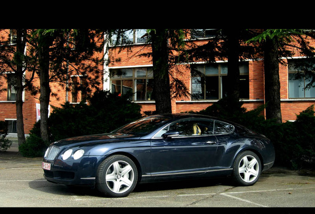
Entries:
{"type": "Polygon", "coordinates": [[[148,34],[146,29],[119,30],[111,36],[110,45],[128,45],[146,43],[148,34]]]}

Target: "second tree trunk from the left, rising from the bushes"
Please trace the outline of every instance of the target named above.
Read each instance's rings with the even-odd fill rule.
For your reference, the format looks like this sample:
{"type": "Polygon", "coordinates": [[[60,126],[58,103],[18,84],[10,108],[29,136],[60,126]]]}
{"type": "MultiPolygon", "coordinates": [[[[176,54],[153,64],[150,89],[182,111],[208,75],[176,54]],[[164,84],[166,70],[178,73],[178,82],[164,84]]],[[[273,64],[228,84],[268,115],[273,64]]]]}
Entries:
{"type": "Polygon", "coordinates": [[[44,44],[39,48],[39,65],[40,65],[40,104],[41,104],[41,138],[45,142],[49,142],[49,131],[48,131],[48,107],[51,95],[51,89],[49,86],[49,45],[44,44]]]}

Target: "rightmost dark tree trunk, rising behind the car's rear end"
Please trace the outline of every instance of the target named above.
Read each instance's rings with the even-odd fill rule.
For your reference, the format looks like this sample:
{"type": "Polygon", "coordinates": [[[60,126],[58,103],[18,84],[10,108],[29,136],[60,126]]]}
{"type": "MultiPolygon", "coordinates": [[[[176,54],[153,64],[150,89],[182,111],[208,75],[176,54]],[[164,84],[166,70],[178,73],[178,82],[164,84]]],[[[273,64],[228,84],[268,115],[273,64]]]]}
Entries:
{"type": "Polygon", "coordinates": [[[266,39],[264,44],[264,90],[266,119],[281,123],[280,79],[277,38],[266,39]]]}

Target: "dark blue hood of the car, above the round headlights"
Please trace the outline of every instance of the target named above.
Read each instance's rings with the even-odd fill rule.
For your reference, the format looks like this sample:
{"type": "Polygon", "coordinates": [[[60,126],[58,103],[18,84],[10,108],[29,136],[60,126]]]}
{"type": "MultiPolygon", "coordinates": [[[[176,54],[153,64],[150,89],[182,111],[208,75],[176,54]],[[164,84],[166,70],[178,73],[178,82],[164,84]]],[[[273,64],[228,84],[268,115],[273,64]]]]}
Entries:
{"type": "Polygon", "coordinates": [[[62,139],[54,142],[55,146],[66,146],[72,144],[97,144],[97,143],[106,143],[122,140],[137,140],[139,136],[129,135],[129,134],[119,134],[119,133],[105,133],[105,134],[96,134],[96,135],[85,135],[78,137],[71,137],[67,139],[62,139]]]}

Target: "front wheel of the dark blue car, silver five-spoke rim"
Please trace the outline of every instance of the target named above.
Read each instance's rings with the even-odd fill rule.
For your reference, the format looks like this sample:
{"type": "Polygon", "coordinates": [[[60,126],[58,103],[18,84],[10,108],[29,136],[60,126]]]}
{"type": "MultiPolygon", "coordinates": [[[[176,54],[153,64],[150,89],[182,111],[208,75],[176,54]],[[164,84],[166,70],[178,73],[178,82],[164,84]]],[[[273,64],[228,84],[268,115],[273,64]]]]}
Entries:
{"type": "Polygon", "coordinates": [[[135,188],[138,171],[135,163],[126,156],[106,158],[97,171],[97,189],[107,197],[126,197],[135,188]]]}

